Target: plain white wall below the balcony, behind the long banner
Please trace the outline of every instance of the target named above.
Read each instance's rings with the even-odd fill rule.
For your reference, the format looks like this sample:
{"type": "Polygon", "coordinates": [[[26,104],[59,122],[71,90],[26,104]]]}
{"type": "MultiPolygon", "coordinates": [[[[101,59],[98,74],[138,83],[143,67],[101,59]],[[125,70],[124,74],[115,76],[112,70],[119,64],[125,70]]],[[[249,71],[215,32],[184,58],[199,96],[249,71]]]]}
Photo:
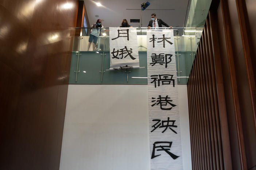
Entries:
{"type": "MultiPolygon", "coordinates": [[[[191,170],[186,85],[178,85],[191,170]]],[[[147,85],[69,85],[60,170],[150,170],[147,85]]]]}

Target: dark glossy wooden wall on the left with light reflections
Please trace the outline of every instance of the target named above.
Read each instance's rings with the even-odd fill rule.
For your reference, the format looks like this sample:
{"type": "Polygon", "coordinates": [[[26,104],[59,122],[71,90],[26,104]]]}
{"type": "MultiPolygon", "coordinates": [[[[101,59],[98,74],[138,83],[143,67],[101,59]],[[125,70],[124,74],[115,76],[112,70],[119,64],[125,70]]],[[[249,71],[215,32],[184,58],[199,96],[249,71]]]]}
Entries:
{"type": "Polygon", "coordinates": [[[0,169],[59,169],[77,8],[0,1],[0,169]]]}

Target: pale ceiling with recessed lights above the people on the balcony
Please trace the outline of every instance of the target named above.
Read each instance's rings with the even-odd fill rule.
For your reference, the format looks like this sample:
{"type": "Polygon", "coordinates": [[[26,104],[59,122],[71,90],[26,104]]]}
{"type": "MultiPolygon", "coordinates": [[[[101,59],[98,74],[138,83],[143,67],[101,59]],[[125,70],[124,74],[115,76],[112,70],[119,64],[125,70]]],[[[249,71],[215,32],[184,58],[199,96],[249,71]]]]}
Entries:
{"type": "Polygon", "coordinates": [[[104,27],[119,27],[123,19],[139,27],[140,23],[130,23],[130,19],[140,19],[140,4],[147,1],[150,6],[142,12],[142,27],[147,27],[152,13],[172,27],[183,27],[189,0],[84,0],[90,25],[101,19],[104,27]]]}

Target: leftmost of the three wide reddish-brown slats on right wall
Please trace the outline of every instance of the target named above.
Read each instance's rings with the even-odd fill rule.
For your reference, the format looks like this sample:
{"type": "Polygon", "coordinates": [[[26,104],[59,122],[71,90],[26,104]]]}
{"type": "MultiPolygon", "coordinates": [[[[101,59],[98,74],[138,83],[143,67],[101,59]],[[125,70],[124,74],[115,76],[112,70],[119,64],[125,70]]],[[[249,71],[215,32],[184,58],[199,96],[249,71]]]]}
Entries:
{"type": "Polygon", "coordinates": [[[218,33],[216,29],[216,11],[209,11],[209,20],[206,20],[208,43],[209,49],[212,49],[212,57],[214,71],[216,74],[216,89],[218,98],[218,110],[220,113],[220,124],[221,124],[221,138],[222,138],[222,150],[224,157],[224,166],[226,170],[232,169],[231,151],[230,151],[230,140],[228,131],[228,118],[226,113],[226,102],[223,84],[223,73],[221,66],[220,47],[218,45],[218,33]],[[209,27],[208,27],[209,26],[209,27]]]}

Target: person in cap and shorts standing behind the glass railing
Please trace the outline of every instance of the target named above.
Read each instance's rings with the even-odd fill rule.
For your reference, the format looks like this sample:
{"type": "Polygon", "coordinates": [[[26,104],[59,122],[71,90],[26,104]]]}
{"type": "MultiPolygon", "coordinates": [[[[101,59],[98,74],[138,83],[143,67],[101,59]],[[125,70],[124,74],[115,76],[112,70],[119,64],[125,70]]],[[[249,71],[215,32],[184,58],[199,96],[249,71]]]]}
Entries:
{"type": "Polygon", "coordinates": [[[89,43],[88,43],[88,51],[92,43],[93,43],[93,50],[96,50],[96,44],[98,41],[98,37],[100,36],[100,33],[102,31],[102,28],[104,27],[101,24],[101,19],[98,19],[97,22],[92,25],[91,34],[90,34],[89,43]]]}

